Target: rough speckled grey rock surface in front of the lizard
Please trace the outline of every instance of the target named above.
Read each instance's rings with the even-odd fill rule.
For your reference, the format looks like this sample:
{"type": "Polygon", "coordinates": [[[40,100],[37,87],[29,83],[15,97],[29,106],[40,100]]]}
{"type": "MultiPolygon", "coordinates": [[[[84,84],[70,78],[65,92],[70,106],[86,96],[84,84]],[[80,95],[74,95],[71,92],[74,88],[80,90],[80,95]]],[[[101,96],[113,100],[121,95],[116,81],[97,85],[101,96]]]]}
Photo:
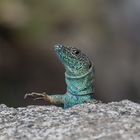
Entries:
{"type": "Polygon", "coordinates": [[[0,105],[0,140],[140,140],[140,104],[128,100],[9,108],[0,105]]]}

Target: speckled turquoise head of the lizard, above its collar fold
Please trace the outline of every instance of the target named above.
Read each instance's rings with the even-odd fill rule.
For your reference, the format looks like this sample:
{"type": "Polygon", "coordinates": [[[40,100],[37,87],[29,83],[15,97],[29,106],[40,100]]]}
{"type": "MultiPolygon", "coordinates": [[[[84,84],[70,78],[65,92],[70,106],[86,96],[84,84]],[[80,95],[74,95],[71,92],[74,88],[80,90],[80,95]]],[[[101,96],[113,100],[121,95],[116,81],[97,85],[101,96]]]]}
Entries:
{"type": "Polygon", "coordinates": [[[86,73],[92,66],[86,54],[75,47],[55,45],[55,52],[66,69],[66,73],[78,76],[86,73]]]}

